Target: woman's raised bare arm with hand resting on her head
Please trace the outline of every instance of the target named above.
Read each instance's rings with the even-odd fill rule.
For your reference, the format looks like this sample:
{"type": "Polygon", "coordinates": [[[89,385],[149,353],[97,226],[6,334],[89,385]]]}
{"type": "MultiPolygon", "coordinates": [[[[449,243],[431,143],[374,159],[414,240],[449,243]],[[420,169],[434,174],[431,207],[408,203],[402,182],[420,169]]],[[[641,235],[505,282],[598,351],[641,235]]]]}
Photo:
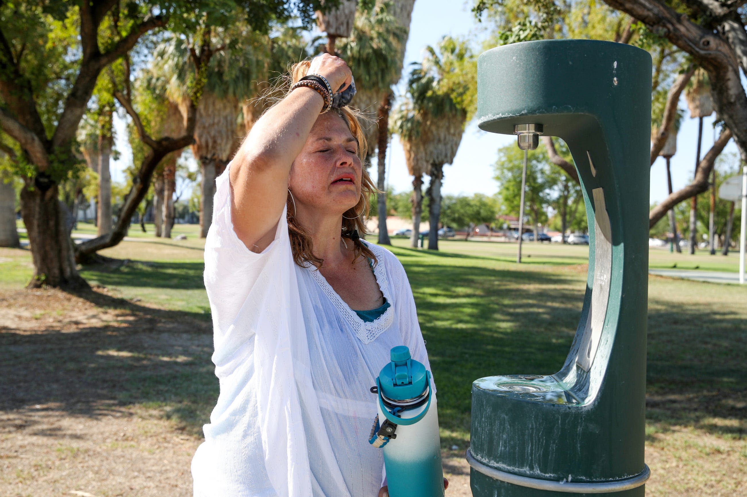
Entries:
{"type": "MultiPolygon", "coordinates": [[[[329,54],[311,60],[309,74],[324,76],[332,91],[352,81],[344,60],[329,54]]],[[[297,88],[258,119],[236,153],[229,170],[231,218],[249,250],[262,251],[273,241],[288,198],[291,165],[323,106],[316,90],[297,88]]]]}

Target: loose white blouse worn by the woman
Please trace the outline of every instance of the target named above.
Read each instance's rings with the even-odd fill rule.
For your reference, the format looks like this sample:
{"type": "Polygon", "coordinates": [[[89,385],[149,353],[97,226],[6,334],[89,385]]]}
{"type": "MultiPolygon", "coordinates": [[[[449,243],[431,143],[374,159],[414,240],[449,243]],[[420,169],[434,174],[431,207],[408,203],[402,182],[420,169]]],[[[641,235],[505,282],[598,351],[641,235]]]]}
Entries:
{"type": "Polygon", "coordinates": [[[368,244],[391,306],[364,322],[314,266],[294,263],[285,211],[261,254],[244,246],[229,170],[205,243],[220,396],[192,461],[194,495],[376,497],[383,459],[368,443],[370,389],[394,346],[430,370],[403,266],[368,244]]]}

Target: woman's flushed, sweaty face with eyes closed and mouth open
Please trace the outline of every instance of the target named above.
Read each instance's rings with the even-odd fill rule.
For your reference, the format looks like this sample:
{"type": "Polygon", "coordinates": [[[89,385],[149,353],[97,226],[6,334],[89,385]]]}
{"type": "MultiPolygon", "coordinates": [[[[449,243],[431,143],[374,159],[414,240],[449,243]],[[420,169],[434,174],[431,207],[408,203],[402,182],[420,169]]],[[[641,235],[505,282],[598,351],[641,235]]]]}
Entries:
{"type": "Polygon", "coordinates": [[[341,214],[361,197],[362,165],[358,143],[344,120],[322,114],[291,168],[288,187],[297,207],[341,214]]]}

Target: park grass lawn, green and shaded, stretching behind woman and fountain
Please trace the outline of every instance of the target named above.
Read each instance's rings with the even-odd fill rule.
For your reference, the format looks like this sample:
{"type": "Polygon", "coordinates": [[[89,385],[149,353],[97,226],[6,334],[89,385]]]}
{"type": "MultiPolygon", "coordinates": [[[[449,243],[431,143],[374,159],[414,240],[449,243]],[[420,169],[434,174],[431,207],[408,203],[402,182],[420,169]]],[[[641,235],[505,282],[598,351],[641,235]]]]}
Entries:
{"type": "MultiPolygon", "coordinates": [[[[138,229],[133,226],[130,236],[138,229]]],[[[474,379],[560,369],[580,315],[588,248],[526,243],[525,263],[518,266],[515,244],[447,240],[439,252],[408,245],[394,240],[392,250],[412,284],[438,382],[442,443],[458,447],[447,451],[457,460],[468,445],[474,379]]],[[[148,454],[161,454],[164,447],[187,444],[182,459],[164,459],[183,466],[218,393],[210,363],[202,241],[187,235],[182,241],[123,242],[102,253],[129,262],[84,268],[84,277],[100,287],[66,297],[54,290],[19,290],[31,274],[28,251],[0,249],[0,313],[10,316],[0,320],[0,348],[11,351],[0,364],[0,374],[10,378],[0,387],[0,411],[32,419],[28,416],[38,414],[38,405],[61,413],[57,423],[69,433],[75,431],[74,422],[66,420],[108,419],[108,428],[101,425],[88,445],[74,437],[45,439],[62,444],[62,455],[54,456],[58,466],[80,461],[82,456],[70,453],[75,447],[99,459],[122,451],[122,457],[146,454],[147,461],[148,454]],[[66,353],[59,354],[61,349],[66,353]],[[133,424],[123,425],[126,430],[120,428],[125,419],[133,424]],[[153,428],[161,422],[167,424],[153,428]],[[149,428],[137,428],[137,423],[149,428]],[[188,440],[152,446],[143,430],[188,440]]],[[[651,249],[650,259],[651,267],[737,268],[734,254],[689,256],[651,249]]],[[[747,288],[651,277],[648,331],[646,460],[653,475],[647,495],[747,493],[747,288]]],[[[21,443],[4,433],[0,443],[21,443]]],[[[9,467],[0,483],[40,488],[34,485],[43,470],[32,462],[24,466],[19,459],[21,473],[9,467]]],[[[149,469],[137,471],[142,476],[149,469]]],[[[463,472],[454,474],[465,478],[463,472]]],[[[140,488],[137,478],[133,481],[140,488]]],[[[89,488],[97,488],[91,481],[89,488]]],[[[188,495],[158,492],[131,495],[188,495]]]]}

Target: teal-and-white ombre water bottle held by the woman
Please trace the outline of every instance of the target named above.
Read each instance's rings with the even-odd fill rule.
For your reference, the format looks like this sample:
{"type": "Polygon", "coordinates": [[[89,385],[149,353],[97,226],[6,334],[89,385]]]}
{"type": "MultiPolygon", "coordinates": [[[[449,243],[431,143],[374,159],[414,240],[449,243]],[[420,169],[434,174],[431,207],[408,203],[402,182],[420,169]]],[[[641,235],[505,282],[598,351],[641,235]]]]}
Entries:
{"type": "Polygon", "coordinates": [[[391,349],[391,362],[376,378],[378,395],[369,442],[384,451],[390,497],[443,497],[441,439],[430,371],[410,357],[409,348],[391,349]]]}

